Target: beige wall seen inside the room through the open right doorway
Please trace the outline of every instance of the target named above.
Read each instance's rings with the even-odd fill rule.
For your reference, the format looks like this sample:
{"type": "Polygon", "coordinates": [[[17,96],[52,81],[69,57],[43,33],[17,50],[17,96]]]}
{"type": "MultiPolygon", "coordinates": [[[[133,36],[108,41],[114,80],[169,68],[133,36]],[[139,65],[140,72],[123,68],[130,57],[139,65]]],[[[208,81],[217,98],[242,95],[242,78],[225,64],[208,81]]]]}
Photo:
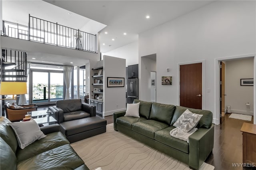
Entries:
{"type": "Polygon", "coordinates": [[[225,105],[231,106],[232,113],[253,115],[253,86],[240,86],[240,79],[253,77],[254,58],[226,61],[225,105]]]}

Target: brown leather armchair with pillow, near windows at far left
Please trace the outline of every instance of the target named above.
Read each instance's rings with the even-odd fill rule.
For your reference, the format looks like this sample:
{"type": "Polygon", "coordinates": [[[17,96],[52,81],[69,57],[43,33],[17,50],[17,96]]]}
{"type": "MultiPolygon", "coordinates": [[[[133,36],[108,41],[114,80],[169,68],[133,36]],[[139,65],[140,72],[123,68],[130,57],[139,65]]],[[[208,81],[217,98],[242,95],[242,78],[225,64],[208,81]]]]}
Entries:
{"type": "Polygon", "coordinates": [[[25,115],[31,111],[37,111],[37,106],[35,104],[26,104],[19,105],[11,104],[10,102],[6,102],[4,105],[6,118],[10,121],[20,121],[25,118],[25,115]]]}

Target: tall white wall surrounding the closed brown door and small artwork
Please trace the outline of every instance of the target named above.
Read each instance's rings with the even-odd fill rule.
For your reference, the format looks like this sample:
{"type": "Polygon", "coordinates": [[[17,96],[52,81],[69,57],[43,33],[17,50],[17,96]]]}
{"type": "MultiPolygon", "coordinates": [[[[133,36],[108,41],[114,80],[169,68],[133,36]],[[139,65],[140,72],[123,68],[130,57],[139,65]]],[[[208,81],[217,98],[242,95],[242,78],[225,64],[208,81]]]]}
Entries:
{"type": "MultiPolygon", "coordinates": [[[[139,34],[139,70],[142,56],[156,53],[156,77],[172,76],[171,86],[157,83],[156,101],[177,104],[178,63],[205,61],[205,107],[215,119],[215,58],[256,53],[256,2],[216,1],[173,21],[139,34]]],[[[139,71],[139,89],[147,81],[139,71]]],[[[141,90],[139,96],[146,98],[141,90]]]]}

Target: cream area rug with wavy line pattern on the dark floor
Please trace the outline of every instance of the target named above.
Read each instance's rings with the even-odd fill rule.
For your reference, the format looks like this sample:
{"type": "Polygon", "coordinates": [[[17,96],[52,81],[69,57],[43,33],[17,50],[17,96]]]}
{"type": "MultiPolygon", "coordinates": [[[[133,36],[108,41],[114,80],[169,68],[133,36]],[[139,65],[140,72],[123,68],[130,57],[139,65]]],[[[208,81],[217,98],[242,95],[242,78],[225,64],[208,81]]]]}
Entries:
{"type": "MultiPolygon", "coordinates": [[[[189,170],[189,166],[121,132],[107,132],[71,144],[90,170],[189,170]]],[[[214,170],[204,164],[200,170],[214,170]]]]}

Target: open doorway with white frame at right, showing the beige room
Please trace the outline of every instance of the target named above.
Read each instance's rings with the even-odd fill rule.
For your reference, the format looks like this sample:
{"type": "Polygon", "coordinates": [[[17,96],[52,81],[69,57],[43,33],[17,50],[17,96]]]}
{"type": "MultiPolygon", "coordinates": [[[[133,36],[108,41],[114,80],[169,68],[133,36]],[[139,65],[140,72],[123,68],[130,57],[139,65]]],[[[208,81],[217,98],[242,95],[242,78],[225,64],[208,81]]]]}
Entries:
{"type": "Polygon", "coordinates": [[[231,106],[231,113],[253,115],[254,124],[256,123],[255,82],[250,86],[243,86],[240,82],[244,78],[255,80],[255,67],[255,54],[215,59],[216,119],[214,121],[216,125],[221,124],[227,117],[223,114],[227,113],[227,106],[231,106]],[[224,68],[223,63],[225,64],[224,68]],[[222,67],[222,70],[220,67],[222,67]]]}

